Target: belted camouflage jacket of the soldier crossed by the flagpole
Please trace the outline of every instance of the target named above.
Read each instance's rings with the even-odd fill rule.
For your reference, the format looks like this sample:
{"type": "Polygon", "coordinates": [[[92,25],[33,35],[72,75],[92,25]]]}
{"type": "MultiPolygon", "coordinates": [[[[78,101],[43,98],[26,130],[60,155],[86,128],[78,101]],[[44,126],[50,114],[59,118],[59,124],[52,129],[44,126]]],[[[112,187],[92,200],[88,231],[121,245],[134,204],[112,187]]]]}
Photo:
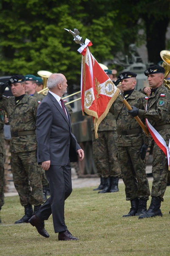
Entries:
{"type": "MultiPolygon", "coordinates": [[[[147,103],[147,97],[143,93],[137,90],[133,90],[133,92],[127,98],[127,102],[130,104],[130,106],[135,106],[136,108],[144,110],[147,103]]],[[[133,129],[141,129],[142,131],[142,128],[136,119],[134,119],[134,117],[132,117],[130,113],[127,112],[126,106],[119,99],[119,97],[113,103],[110,111],[114,113],[114,116],[116,117],[117,130],[127,131],[133,129]]],[[[142,119],[142,122],[144,122],[144,119],[142,119]]],[[[121,134],[118,135],[117,139],[117,145],[119,146],[142,145],[143,143],[148,144],[148,139],[144,135],[144,132],[128,135],[121,134]]]]}

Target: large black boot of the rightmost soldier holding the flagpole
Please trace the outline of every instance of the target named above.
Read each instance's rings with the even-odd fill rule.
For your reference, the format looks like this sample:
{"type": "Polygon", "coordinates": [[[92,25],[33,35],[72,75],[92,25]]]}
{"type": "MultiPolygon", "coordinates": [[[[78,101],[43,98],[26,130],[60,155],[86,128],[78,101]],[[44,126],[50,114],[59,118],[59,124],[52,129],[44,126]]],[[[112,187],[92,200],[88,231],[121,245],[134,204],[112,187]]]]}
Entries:
{"type": "Polygon", "coordinates": [[[147,209],[147,211],[144,214],[139,216],[139,219],[162,216],[160,207],[161,207],[161,198],[156,198],[153,196],[150,202],[150,207],[147,209]]]}

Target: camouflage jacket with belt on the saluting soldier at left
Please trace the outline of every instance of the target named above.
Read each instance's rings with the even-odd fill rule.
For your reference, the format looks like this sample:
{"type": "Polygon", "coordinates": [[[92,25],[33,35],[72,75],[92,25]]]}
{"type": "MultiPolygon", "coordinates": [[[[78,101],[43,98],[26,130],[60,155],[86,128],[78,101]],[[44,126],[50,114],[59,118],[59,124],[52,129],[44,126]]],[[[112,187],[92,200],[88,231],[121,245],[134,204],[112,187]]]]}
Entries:
{"type": "MultiPolygon", "coordinates": [[[[37,99],[33,96],[24,95],[17,105],[15,105],[15,97],[0,96],[0,108],[7,112],[11,134],[17,131],[35,131],[38,105],[37,99]]],[[[11,137],[11,152],[17,153],[36,149],[36,134],[11,137]]]]}

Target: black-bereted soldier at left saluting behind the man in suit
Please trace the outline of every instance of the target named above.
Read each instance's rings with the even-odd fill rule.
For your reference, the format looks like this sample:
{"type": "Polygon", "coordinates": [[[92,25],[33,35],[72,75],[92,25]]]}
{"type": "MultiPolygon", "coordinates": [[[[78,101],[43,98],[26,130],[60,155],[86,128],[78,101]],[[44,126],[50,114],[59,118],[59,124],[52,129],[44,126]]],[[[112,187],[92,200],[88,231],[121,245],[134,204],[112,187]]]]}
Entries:
{"type": "Polygon", "coordinates": [[[11,128],[11,171],[14,185],[25,208],[17,223],[28,222],[43,203],[40,170],[37,169],[36,112],[39,103],[25,94],[25,78],[12,76],[8,83],[14,97],[2,96],[7,84],[0,83],[0,107],[7,112],[11,128]]]}

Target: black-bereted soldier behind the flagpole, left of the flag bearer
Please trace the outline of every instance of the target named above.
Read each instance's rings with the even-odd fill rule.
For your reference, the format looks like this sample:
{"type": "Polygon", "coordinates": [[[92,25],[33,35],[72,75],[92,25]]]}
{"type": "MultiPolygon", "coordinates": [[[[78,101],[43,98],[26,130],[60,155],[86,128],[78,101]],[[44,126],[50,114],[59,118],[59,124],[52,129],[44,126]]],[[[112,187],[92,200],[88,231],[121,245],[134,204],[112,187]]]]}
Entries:
{"type": "MultiPolygon", "coordinates": [[[[127,102],[144,109],[147,97],[134,90],[136,76],[135,73],[124,72],[118,78],[122,80],[123,95],[127,102]]],[[[113,103],[110,111],[116,117],[118,160],[125,183],[126,200],[130,200],[131,204],[130,212],[123,217],[140,215],[146,211],[150,195],[145,171],[148,141],[138,122],[127,112],[126,106],[119,98],[113,103]]]]}

